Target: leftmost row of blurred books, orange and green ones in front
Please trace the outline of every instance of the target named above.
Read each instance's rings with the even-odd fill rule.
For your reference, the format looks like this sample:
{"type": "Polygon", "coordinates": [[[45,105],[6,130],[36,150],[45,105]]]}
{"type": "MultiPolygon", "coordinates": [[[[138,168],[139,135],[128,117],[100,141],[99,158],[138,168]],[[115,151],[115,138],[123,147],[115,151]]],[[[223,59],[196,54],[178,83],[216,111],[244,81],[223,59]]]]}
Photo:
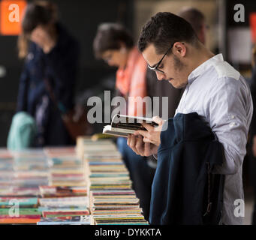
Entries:
{"type": "Polygon", "coordinates": [[[2,149],[0,174],[0,223],[35,224],[41,220],[38,186],[49,183],[44,152],[2,149]]]}

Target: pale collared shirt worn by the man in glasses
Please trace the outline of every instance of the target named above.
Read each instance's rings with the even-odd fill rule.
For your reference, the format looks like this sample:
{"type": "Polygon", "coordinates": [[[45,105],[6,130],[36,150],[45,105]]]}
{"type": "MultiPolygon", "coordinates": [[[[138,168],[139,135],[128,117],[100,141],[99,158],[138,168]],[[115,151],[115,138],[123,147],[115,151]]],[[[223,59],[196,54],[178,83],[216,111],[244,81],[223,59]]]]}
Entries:
{"type": "Polygon", "coordinates": [[[198,113],[224,146],[224,164],[214,172],[225,175],[222,223],[242,224],[236,217],[236,199],[244,199],[242,162],[246,154],[248,128],[253,112],[251,93],[244,78],[222,54],[194,69],[176,110],[198,113]]]}

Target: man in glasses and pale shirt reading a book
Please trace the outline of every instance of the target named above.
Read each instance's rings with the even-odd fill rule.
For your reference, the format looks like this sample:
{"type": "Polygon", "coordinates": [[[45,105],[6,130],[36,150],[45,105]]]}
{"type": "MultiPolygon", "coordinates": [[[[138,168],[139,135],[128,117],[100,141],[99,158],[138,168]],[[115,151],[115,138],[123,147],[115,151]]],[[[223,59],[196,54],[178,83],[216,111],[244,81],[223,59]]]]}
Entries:
{"type": "MultiPolygon", "coordinates": [[[[206,49],[191,25],[173,13],[152,17],[143,26],[138,47],[158,80],[185,88],[176,114],[197,113],[223,145],[223,166],[214,169],[225,175],[221,223],[241,224],[242,217],[234,215],[234,201],[243,199],[242,161],[253,111],[244,78],[221,54],[206,49]]],[[[163,121],[154,121],[158,127],[143,124],[147,131],[128,136],[128,145],[141,156],[157,154],[161,145],[163,121]]]]}

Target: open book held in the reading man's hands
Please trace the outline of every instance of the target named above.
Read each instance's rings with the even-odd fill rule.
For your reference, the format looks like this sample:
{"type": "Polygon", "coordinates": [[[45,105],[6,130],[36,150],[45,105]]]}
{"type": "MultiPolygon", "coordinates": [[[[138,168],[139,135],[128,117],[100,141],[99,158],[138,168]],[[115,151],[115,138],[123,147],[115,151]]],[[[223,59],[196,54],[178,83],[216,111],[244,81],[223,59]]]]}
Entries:
{"type": "Polygon", "coordinates": [[[128,134],[133,134],[136,130],[146,130],[141,124],[142,122],[151,124],[152,126],[158,126],[152,118],[116,114],[112,119],[111,125],[104,127],[103,133],[113,136],[128,137],[128,134]]]}

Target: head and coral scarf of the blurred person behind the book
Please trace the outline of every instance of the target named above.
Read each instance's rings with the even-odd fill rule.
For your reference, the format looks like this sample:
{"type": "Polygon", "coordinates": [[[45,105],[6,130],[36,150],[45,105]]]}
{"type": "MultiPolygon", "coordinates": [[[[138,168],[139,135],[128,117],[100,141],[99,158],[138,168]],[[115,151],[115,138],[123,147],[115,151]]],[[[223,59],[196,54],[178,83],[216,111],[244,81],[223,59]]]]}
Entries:
{"type": "Polygon", "coordinates": [[[123,110],[123,113],[145,115],[145,107],[139,109],[134,98],[146,97],[147,65],[134,46],[134,40],[128,30],[117,23],[103,23],[98,27],[93,47],[97,58],[102,58],[108,65],[118,68],[118,95],[126,100],[130,97],[127,110],[123,110]]]}

